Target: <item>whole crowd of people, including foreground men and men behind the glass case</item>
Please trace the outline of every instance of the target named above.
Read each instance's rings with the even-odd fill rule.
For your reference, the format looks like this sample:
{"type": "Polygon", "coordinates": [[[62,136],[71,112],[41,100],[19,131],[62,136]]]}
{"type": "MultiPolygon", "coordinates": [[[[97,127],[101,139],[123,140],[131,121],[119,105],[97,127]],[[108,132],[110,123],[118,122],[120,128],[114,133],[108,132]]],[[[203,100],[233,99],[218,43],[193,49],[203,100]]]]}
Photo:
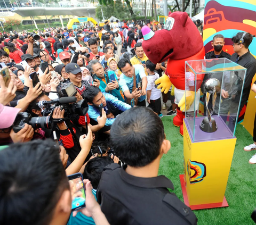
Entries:
{"type": "MultiPolygon", "coordinates": [[[[141,28],[163,24],[119,24],[1,33],[1,224],[197,223],[167,189],[172,182],[158,177],[171,147],[161,110],[170,99],[167,115],[175,115],[174,87],[164,94],[155,85],[167,61],[148,60],[141,28]],[[71,214],[67,176],[78,172],[86,206],[71,214]]],[[[239,44],[242,35],[233,38],[232,56],[222,51],[224,37],[215,36],[206,59],[227,57],[247,68],[245,104],[256,61],[252,35],[239,44]]],[[[245,151],[256,149],[255,129],[245,151]]]]}

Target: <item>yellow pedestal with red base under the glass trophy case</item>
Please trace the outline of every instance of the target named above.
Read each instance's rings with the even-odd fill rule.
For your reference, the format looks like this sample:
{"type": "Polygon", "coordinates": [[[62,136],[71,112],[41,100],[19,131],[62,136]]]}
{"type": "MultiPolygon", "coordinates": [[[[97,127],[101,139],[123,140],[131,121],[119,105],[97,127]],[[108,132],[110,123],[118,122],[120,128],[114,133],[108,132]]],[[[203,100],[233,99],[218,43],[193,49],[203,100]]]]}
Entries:
{"type": "Polygon", "coordinates": [[[228,206],[223,204],[226,201],[224,194],[236,138],[193,142],[188,129],[188,123],[184,122],[184,174],[181,182],[183,197],[187,198],[185,204],[187,201],[191,209],[228,206]]]}

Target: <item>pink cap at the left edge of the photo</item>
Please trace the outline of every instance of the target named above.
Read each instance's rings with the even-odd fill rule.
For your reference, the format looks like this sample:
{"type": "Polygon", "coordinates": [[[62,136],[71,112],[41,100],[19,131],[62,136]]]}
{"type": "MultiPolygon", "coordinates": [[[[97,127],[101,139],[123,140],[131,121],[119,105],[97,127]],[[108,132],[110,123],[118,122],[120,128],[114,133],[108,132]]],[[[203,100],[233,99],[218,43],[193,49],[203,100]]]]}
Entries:
{"type": "Polygon", "coordinates": [[[0,117],[5,118],[4,120],[0,120],[0,129],[11,127],[19,111],[20,109],[0,104],[0,117]]]}

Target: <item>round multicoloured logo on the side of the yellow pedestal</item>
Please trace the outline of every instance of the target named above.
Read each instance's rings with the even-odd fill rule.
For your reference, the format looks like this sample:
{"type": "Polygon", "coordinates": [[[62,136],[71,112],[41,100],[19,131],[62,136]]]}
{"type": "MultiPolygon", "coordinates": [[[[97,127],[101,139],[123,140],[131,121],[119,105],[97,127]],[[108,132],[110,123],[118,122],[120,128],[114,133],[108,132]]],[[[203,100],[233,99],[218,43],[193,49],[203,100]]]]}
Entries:
{"type": "Polygon", "coordinates": [[[188,160],[187,171],[190,184],[201,182],[204,180],[204,177],[206,177],[206,166],[201,162],[188,160]]]}

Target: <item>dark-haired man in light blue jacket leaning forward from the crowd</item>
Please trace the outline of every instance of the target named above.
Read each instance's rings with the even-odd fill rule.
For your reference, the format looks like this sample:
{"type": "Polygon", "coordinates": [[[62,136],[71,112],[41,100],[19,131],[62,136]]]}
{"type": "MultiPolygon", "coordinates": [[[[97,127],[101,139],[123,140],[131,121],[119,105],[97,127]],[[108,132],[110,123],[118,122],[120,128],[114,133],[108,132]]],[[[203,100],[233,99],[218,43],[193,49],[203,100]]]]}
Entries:
{"type": "MultiPolygon", "coordinates": [[[[92,122],[98,122],[98,117],[100,116],[100,111],[105,110],[106,114],[113,113],[114,116],[121,114],[122,112],[131,109],[131,106],[119,101],[113,95],[105,92],[101,92],[98,87],[89,86],[86,88],[83,94],[83,98],[86,99],[89,105],[88,114],[93,120],[92,122]]],[[[111,126],[116,118],[108,118],[106,121],[106,126],[111,126]]]]}

